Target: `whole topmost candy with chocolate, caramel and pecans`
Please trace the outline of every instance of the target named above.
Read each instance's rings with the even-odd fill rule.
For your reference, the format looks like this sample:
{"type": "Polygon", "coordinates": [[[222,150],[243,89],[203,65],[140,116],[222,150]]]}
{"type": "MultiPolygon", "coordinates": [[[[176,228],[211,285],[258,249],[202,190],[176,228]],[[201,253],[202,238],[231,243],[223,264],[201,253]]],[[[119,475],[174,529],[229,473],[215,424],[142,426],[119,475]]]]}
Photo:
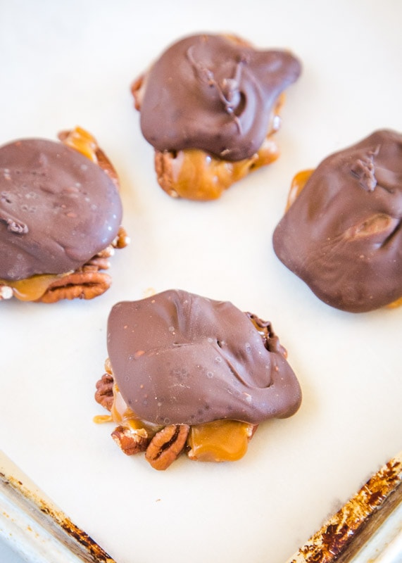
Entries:
{"type": "Polygon", "coordinates": [[[276,160],[277,110],[300,73],[289,51],[234,35],[196,34],[168,47],[131,88],[161,188],[211,201],[276,160]]]}

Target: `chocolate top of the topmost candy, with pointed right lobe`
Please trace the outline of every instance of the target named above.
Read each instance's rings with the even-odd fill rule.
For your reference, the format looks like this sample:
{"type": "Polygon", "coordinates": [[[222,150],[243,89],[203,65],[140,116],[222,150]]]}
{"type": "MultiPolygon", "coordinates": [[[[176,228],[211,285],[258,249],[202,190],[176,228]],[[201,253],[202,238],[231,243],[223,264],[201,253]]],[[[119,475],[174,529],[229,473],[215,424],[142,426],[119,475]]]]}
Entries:
{"type": "Polygon", "coordinates": [[[268,134],[279,94],[300,72],[287,51],[257,51],[220,35],[187,37],[146,75],[142,132],[158,151],[248,158],[268,134]]]}

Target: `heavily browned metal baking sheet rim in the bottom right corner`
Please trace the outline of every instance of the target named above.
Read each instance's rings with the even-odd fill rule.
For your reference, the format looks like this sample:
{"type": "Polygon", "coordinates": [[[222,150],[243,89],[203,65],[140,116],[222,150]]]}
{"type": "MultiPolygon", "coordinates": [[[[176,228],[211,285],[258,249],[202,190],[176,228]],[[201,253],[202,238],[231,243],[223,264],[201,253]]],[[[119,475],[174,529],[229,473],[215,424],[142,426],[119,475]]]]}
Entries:
{"type": "MultiPolygon", "coordinates": [[[[371,551],[379,560],[389,542],[401,546],[402,452],[393,457],[346,502],[346,505],[303,545],[287,563],[358,563],[365,559],[363,547],[377,542],[371,551]],[[394,514],[394,518],[392,518],[394,514]],[[389,521],[386,533],[380,531],[389,521]],[[382,543],[383,545],[380,545],[382,543]],[[360,555],[361,557],[360,557],[360,555]]],[[[391,554],[391,550],[389,550],[391,554]]],[[[401,562],[402,552],[389,555],[385,562],[401,562]],[[390,558],[392,557],[392,558],[390,558]]]]}

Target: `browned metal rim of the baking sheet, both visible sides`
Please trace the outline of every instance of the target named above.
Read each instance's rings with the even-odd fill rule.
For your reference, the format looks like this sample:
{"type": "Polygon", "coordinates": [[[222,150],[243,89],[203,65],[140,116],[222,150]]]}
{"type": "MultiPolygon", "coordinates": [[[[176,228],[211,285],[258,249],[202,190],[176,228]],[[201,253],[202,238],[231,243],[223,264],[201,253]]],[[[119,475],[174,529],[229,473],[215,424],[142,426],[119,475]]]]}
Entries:
{"type": "MultiPolygon", "coordinates": [[[[0,450],[0,538],[30,563],[116,563],[0,450]]],[[[401,563],[402,452],[287,563],[401,563]]]]}

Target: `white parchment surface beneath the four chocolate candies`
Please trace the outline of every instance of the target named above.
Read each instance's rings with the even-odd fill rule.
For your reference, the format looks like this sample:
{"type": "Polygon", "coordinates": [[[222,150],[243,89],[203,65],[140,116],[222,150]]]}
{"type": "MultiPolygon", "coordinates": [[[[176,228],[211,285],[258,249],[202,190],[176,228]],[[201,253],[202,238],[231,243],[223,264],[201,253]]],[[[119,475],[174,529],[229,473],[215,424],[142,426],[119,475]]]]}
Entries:
{"type": "Polygon", "coordinates": [[[282,563],[401,450],[402,309],[333,310],[271,244],[295,172],[374,129],[402,131],[401,18],[398,0],[0,4],[0,143],[88,129],[120,174],[132,239],[101,298],[0,304],[0,445],[118,563],[282,563]],[[165,46],[200,31],[303,62],[281,157],[211,203],[158,187],[130,96],[165,46]],[[172,287],[271,320],[301,382],[301,410],[261,425],[234,464],[156,472],[92,422],[111,306],[172,287]]]}

